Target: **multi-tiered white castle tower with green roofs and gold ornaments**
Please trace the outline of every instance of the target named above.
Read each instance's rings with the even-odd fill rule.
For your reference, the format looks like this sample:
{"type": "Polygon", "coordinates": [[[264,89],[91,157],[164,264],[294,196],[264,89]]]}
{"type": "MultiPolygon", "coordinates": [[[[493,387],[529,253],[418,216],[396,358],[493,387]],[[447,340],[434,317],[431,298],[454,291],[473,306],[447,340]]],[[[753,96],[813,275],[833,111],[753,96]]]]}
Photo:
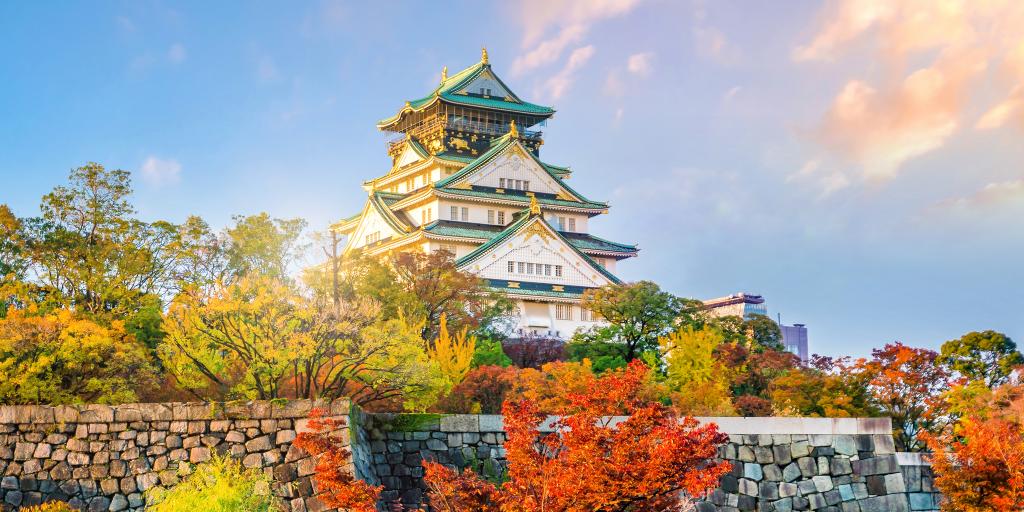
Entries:
{"type": "Polygon", "coordinates": [[[540,128],[555,111],[521,99],[480,61],[449,75],[424,97],[378,123],[391,134],[391,168],[366,181],[362,210],[334,229],[346,253],[449,251],[456,265],[515,299],[513,336],[566,338],[599,322],[583,293],[611,283],[635,245],[590,233],[608,212],[541,160],[540,128]]]}

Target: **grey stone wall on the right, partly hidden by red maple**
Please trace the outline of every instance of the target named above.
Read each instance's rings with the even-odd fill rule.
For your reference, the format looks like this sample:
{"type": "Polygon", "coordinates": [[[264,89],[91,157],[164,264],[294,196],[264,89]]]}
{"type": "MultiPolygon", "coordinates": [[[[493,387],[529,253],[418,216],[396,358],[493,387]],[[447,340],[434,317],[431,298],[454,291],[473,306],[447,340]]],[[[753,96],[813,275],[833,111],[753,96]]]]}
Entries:
{"type": "MultiPolygon", "coordinates": [[[[931,468],[897,454],[888,419],[701,418],[729,434],[720,456],[732,472],[700,512],[937,510],[931,468]]],[[[366,471],[385,486],[384,501],[418,505],[422,460],[500,474],[505,467],[501,416],[365,415],[366,471]]]]}

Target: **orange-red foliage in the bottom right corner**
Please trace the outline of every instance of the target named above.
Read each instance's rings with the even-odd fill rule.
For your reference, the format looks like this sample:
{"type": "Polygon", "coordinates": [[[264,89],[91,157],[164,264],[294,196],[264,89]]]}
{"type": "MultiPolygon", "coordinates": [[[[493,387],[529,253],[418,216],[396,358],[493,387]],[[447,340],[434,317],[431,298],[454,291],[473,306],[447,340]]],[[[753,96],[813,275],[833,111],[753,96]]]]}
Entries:
{"type": "Polygon", "coordinates": [[[1021,426],[1000,419],[967,419],[961,426],[962,439],[924,435],[936,454],[932,468],[935,485],[945,499],[943,510],[1024,510],[1021,426]]]}

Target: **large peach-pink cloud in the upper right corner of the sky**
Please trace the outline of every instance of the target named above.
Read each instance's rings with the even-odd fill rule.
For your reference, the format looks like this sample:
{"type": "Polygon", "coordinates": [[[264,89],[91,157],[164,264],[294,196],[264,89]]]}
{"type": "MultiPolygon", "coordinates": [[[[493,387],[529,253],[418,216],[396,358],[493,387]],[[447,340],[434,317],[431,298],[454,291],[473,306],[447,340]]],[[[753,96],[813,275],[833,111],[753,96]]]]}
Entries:
{"type": "Polygon", "coordinates": [[[867,179],[891,178],[904,163],[945,145],[962,126],[992,129],[1024,114],[1024,2],[843,0],[792,56],[841,63],[864,47],[873,56],[862,73],[880,76],[847,79],[818,139],[858,163],[867,179]],[[991,69],[1001,83],[991,83],[985,73],[991,69]],[[977,102],[987,103],[984,114],[968,119],[977,102]]]}

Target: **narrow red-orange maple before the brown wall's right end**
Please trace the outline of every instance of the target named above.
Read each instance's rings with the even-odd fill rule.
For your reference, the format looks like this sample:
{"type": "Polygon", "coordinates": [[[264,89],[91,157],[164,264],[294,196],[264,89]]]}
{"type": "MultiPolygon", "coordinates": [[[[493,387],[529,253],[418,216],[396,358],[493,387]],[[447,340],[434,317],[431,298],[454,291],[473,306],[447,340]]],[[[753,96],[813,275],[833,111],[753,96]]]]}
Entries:
{"type": "Polygon", "coordinates": [[[316,497],[328,508],[349,512],[376,512],[382,486],[371,485],[347,468],[350,465],[348,432],[345,423],[324,418],[324,411],[314,409],[309,414],[311,432],[302,432],[295,438],[295,445],[316,458],[316,497]]]}

